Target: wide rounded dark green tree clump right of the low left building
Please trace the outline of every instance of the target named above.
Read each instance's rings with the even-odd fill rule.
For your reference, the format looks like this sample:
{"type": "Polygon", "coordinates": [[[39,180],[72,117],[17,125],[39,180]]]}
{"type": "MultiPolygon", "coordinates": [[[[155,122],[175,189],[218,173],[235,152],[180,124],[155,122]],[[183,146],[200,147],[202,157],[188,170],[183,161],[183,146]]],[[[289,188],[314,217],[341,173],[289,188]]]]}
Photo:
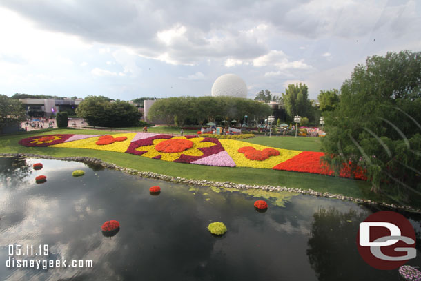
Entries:
{"type": "Polygon", "coordinates": [[[76,108],[79,117],[90,126],[130,127],[136,126],[141,117],[135,106],[127,101],[108,101],[107,97],[88,96],[76,108]]]}

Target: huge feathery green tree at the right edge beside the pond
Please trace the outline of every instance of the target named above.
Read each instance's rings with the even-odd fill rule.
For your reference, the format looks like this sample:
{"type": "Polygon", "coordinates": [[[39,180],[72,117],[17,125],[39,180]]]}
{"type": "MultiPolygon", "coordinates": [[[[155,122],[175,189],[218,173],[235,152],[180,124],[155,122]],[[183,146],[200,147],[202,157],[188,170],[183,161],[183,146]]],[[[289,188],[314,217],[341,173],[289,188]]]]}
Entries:
{"type": "MultiPolygon", "coordinates": [[[[421,52],[388,52],[358,64],[325,112],[325,160],[366,169],[371,191],[401,204],[420,198],[421,52]],[[414,196],[417,195],[417,196],[414,196]]],[[[415,202],[415,201],[413,201],[415,202]]]]}

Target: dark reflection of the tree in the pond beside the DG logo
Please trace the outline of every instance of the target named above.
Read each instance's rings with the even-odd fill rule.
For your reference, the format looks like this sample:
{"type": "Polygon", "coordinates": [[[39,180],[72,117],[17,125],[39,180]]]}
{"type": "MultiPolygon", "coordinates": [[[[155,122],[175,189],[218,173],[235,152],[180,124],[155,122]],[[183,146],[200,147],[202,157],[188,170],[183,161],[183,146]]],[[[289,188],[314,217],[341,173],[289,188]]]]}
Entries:
{"type": "MultiPolygon", "coordinates": [[[[320,209],[313,215],[307,255],[320,281],[328,280],[399,280],[398,271],[380,271],[360,258],[356,236],[360,222],[369,210],[357,212],[320,209]]],[[[411,260],[419,264],[420,257],[411,260]]]]}

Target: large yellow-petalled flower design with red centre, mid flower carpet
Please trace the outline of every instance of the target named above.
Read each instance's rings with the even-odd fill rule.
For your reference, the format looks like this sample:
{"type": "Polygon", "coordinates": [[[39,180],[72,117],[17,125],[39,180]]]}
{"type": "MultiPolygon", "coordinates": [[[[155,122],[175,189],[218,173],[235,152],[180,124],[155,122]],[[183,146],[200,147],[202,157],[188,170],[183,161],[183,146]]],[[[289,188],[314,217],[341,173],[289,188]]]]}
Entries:
{"type": "Polygon", "coordinates": [[[147,151],[141,156],[153,158],[161,156],[161,160],[173,162],[182,154],[188,156],[202,156],[203,153],[198,148],[215,146],[213,142],[202,142],[203,137],[193,137],[187,139],[186,137],[173,137],[171,139],[154,139],[150,146],[140,146],[136,148],[137,151],[147,151]],[[184,140],[177,142],[177,139],[184,140]],[[161,144],[163,143],[163,144],[161,144]],[[161,145],[159,145],[161,144],[161,145]],[[173,151],[173,152],[167,152],[173,151]]]}

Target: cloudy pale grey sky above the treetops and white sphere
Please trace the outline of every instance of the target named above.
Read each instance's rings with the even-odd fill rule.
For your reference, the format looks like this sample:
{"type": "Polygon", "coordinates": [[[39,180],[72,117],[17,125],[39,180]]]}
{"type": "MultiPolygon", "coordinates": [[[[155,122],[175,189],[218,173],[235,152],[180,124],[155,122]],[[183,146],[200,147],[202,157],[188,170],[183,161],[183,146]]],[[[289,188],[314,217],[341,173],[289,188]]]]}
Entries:
{"type": "Polygon", "coordinates": [[[0,94],[248,98],[340,88],[367,57],[421,50],[416,0],[0,0],[0,94]]]}

